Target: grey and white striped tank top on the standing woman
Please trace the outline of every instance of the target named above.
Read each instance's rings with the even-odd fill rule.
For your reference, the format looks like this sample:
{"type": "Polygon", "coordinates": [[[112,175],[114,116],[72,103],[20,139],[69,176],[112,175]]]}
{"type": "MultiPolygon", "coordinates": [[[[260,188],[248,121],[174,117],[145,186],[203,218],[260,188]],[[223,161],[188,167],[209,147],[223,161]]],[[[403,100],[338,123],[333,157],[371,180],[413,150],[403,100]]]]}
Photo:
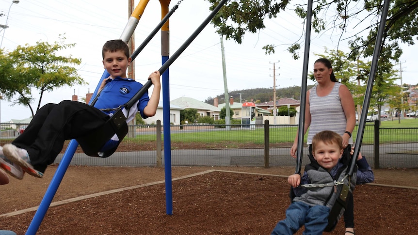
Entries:
{"type": "MultiPolygon", "coordinates": [[[[344,134],[347,119],[341,106],[339,97],[339,86],[341,83],[335,82],[331,93],[326,96],[318,96],[314,86],[309,93],[309,111],[311,114],[311,124],[309,125],[307,144],[312,143],[314,135],[323,130],[332,130],[340,135],[344,134]]],[[[353,144],[353,138],[348,141],[353,144]]]]}

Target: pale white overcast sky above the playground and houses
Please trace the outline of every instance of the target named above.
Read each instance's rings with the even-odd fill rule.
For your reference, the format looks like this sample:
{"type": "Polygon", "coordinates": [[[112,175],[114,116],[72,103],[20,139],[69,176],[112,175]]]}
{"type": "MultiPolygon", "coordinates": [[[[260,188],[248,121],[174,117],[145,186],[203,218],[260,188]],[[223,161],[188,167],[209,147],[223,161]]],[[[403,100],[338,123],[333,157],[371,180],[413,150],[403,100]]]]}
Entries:
{"type": "MultiPolygon", "coordinates": [[[[169,9],[178,1],[171,1],[169,9]]],[[[138,4],[139,0],[135,0],[138,4]]],[[[204,0],[183,0],[177,11],[170,17],[170,54],[197,29],[209,15],[209,2],[204,0]]],[[[35,45],[37,41],[53,44],[65,34],[66,44],[76,46],[64,50],[65,56],[80,58],[77,66],[80,76],[89,83],[85,86],[63,87],[44,94],[42,104],[58,103],[71,99],[73,94],[85,97],[85,94],[96,89],[97,82],[103,74],[101,47],[111,39],[118,39],[128,22],[128,0],[0,0],[0,24],[6,23],[9,28],[1,29],[4,33],[1,47],[12,51],[17,46],[35,45]],[[10,7],[10,13],[9,12],[10,7]]],[[[150,0],[135,30],[135,46],[138,47],[161,20],[161,6],[158,0],[150,0]]],[[[273,63],[276,68],[276,86],[284,88],[302,84],[303,49],[301,59],[293,60],[286,51],[290,44],[300,39],[305,26],[291,10],[279,14],[279,17],[267,20],[266,29],[257,34],[246,33],[243,43],[237,44],[224,39],[226,78],[229,91],[251,88],[273,87],[273,63]],[[274,44],[276,53],[265,55],[262,47],[274,44]]],[[[336,49],[338,37],[327,33],[321,36],[312,35],[309,69],[317,59],[313,53],[323,53],[324,47],[336,49]]],[[[416,55],[417,46],[403,47],[402,82],[416,84],[418,70],[416,55]]],[[[341,47],[348,52],[347,47],[341,47]]],[[[161,67],[161,35],[154,39],[135,60],[135,77],[144,83],[147,76],[161,67]]],[[[399,67],[398,67],[399,69],[399,67]]],[[[220,36],[209,24],[192,42],[192,44],[170,66],[170,100],[181,96],[204,101],[224,93],[222,54],[220,36]]],[[[310,71],[310,70],[309,70],[310,71]]],[[[398,81],[400,84],[400,81],[398,81]]],[[[313,82],[308,81],[308,84],[313,82]]],[[[152,88],[151,88],[152,89],[152,88]]],[[[272,88],[273,94],[273,88],[272,88]]],[[[236,100],[239,97],[234,97],[236,100]]],[[[161,96],[162,100],[162,96],[161,96]]],[[[33,104],[36,108],[38,100],[33,104]]],[[[1,100],[0,121],[25,119],[31,116],[29,108],[11,106],[1,100]]]]}

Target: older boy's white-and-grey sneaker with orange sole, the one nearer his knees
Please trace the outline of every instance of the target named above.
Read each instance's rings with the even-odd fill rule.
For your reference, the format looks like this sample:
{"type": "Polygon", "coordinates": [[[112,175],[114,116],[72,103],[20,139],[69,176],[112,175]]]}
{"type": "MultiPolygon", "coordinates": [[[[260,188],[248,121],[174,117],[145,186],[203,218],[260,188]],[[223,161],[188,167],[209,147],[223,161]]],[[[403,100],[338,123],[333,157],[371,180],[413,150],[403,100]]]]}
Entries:
{"type": "Polygon", "coordinates": [[[44,176],[42,172],[38,172],[33,168],[29,154],[25,149],[18,148],[11,143],[7,143],[3,146],[3,154],[9,158],[9,160],[19,165],[23,171],[28,174],[38,178],[42,178],[44,176]]]}

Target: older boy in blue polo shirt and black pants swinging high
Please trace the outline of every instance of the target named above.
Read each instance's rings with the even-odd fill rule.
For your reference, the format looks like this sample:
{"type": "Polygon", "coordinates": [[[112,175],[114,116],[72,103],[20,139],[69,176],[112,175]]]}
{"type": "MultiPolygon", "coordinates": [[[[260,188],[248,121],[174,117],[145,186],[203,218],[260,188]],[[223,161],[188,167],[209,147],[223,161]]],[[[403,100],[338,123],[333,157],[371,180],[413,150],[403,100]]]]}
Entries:
{"type": "MultiPolygon", "coordinates": [[[[125,104],[143,87],[141,83],[126,76],[131,58],[129,48],[122,40],[107,41],[102,56],[103,66],[111,76],[103,79],[101,93],[94,107],[70,100],[46,104],[36,112],[20,136],[2,147],[4,155],[0,155],[3,163],[0,167],[18,179],[22,179],[23,174],[16,172],[22,169],[42,178],[47,166],[54,162],[63,149],[65,140],[76,139],[100,128],[114,112],[100,109],[112,109],[125,104]]],[[[151,97],[146,92],[132,106],[127,122],[135,117],[137,111],[143,118],[154,116],[157,111],[161,91],[160,72],[151,73],[148,79],[154,85],[151,97]]],[[[117,141],[110,140],[105,147],[112,148],[117,141]]]]}

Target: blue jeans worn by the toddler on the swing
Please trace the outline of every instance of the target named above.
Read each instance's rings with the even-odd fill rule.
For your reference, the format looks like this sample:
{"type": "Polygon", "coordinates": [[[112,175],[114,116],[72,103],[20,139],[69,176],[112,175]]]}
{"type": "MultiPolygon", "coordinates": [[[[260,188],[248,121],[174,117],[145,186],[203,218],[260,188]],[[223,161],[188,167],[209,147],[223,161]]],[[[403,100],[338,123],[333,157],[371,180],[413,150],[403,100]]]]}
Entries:
{"type": "Polygon", "coordinates": [[[323,205],[310,206],[303,202],[293,202],[286,210],[286,219],[277,223],[272,235],[293,235],[303,225],[304,235],[322,235],[328,225],[329,211],[323,205]]]}

